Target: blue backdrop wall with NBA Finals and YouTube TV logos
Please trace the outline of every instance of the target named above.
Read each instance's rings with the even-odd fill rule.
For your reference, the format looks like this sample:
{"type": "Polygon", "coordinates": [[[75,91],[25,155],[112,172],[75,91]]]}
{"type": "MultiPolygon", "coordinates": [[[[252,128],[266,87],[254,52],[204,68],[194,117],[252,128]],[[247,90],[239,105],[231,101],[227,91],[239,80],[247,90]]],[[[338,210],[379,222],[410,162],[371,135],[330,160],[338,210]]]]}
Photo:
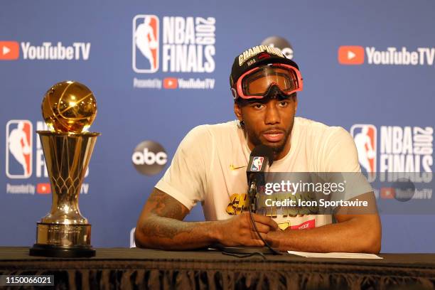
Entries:
{"type": "MultiPolygon", "coordinates": [[[[278,47],[289,43],[280,48],[301,68],[299,116],[371,129],[368,171],[380,171],[382,162],[393,171],[431,171],[434,11],[435,3],[423,0],[3,3],[0,245],[33,245],[36,222],[50,209],[35,131],[42,129],[41,101],[51,85],[77,80],[95,93],[90,131],[102,135],[80,210],[92,224],[92,245],[129,247],[141,207],[164,173],[136,171],[136,146],[156,141],[170,161],[193,127],[235,119],[232,61],[270,36],[279,36],[278,47]],[[26,165],[11,149],[19,123],[31,144],[15,154],[26,165]],[[414,160],[407,170],[401,156],[414,160]]],[[[201,219],[197,206],[188,220],[201,219]]],[[[382,252],[435,252],[434,224],[435,215],[382,215],[382,252]]]]}

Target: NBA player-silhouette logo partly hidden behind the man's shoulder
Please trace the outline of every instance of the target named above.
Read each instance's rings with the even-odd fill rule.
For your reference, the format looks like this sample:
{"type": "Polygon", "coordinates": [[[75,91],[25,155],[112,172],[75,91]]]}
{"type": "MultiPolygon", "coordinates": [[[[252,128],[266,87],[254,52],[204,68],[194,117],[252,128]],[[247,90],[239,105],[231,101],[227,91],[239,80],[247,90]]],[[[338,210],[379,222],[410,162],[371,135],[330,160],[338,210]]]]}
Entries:
{"type": "Polygon", "coordinates": [[[358,150],[358,161],[374,181],[376,172],[376,127],[371,124],[355,124],[350,128],[358,150]]]}

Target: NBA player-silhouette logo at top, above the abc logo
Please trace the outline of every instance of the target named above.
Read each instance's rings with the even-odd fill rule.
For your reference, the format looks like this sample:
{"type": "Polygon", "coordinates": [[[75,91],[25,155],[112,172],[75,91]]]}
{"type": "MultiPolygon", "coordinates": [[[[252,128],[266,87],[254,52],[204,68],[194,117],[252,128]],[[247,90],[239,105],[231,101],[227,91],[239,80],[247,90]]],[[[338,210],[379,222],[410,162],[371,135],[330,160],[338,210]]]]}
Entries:
{"type": "Polygon", "coordinates": [[[159,70],[159,18],[155,15],[133,18],[133,70],[136,73],[159,70]]]}

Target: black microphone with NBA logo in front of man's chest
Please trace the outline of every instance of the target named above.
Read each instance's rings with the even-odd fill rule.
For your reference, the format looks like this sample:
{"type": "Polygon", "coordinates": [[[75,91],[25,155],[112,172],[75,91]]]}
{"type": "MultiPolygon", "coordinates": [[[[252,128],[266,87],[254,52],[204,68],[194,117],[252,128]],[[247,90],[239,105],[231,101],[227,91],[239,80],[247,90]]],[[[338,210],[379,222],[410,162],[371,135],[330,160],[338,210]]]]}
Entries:
{"type": "Polygon", "coordinates": [[[264,186],[264,173],[274,162],[274,152],[266,145],[258,145],[252,150],[249,156],[249,163],[246,168],[248,182],[249,206],[252,213],[257,212],[257,191],[259,186],[264,186]]]}

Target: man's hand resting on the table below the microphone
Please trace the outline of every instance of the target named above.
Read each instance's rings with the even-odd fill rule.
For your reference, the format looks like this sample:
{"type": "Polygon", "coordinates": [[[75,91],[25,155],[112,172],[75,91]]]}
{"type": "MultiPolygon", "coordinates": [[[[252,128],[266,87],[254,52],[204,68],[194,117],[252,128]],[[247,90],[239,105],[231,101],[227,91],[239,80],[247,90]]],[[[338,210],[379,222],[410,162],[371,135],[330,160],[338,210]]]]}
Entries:
{"type": "MultiPolygon", "coordinates": [[[[272,218],[264,215],[252,214],[257,230],[263,239],[270,231],[278,230],[278,225],[272,218]]],[[[225,246],[264,246],[252,225],[249,213],[236,215],[228,220],[218,222],[218,240],[225,246]]]]}

